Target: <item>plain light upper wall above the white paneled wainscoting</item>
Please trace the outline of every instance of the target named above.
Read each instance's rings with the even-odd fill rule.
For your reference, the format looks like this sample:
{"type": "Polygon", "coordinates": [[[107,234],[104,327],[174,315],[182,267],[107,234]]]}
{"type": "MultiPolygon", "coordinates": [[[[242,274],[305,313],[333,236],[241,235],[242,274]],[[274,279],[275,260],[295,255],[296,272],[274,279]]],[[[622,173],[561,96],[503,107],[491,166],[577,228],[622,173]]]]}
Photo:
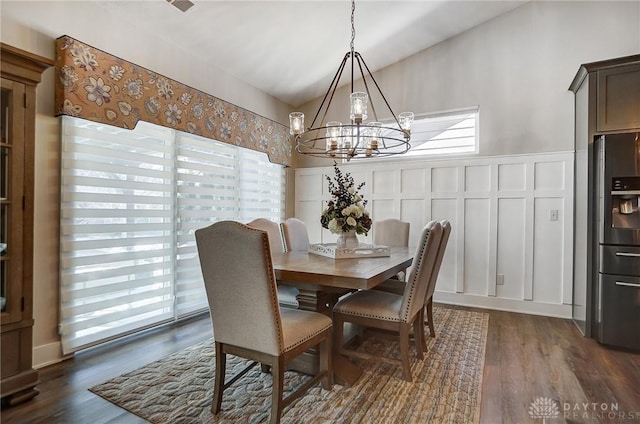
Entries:
{"type": "MultiPolygon", "coordinates": [[[[638,1],[531,1],[375,77],[396,113],[479,106],[482,156],[569,151],[569,84],[579,66],[638,52],[638,1]]],[[[301,110],[313,117],[317,107],[312,102],[301,110]]],[[[343,121],[338,118],[347,112],[338,112],[332,118],[343,121]]],[[[331,163],[299,154],[295,161],[296,167],[331,163]]]]}

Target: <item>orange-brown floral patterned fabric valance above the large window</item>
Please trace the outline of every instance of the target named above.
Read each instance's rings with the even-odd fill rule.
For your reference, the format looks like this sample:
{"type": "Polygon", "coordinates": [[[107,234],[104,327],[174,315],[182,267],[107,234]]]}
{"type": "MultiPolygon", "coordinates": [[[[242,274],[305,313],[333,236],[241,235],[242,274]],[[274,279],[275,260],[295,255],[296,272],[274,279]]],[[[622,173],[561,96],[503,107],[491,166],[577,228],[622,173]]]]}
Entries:
{"type": "Polygon", "coordinates": [[[291,165],[289,128],[69,36],[56,40],[56,116],[121,128],[146,121],[291,165]]]}

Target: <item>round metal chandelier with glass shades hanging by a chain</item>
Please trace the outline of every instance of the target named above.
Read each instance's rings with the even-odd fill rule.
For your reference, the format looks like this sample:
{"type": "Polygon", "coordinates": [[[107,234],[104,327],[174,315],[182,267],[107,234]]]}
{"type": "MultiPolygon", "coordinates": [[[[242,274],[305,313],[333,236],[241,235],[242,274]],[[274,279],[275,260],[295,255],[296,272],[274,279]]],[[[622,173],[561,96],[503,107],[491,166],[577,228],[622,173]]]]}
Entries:
{"type": "Polygon", "coordinates": [[[354,24],[355,9],[355,0],[352,0],[351,50],[342,59],[311,126],[307,129],[304,128],[304,114],[302,112],[289,114],[289,132],[295,137],[296,151],[298,153],[349,161],[354,157],[383,157],[403,154],[409,151],[411,147],[409,141],[411,139],[411,124],[414,118],[413,112],[403,112],[396,116],[364,59],[360,53],[354,51],[356,35],[354,24]],[[349,60],[351,65],[349,121],[348,123],[339,121],[325,122],[342,72],[349,60]],[[354,91],[354,69],[356,65],[360,71],[364,91],[354,91]],[[393,122],[390,125],[385,125],[378,119],[373,98],[369,91],[370,84],[375,86],[386,108],[393,116],[393,122]],[[372,121],[367,121],[369,115],[373,116],[372,121]],[[319,116],[322,117],[318,121],[319,116]],[[317,126],[316,121],[318,121],[317,126]]]}

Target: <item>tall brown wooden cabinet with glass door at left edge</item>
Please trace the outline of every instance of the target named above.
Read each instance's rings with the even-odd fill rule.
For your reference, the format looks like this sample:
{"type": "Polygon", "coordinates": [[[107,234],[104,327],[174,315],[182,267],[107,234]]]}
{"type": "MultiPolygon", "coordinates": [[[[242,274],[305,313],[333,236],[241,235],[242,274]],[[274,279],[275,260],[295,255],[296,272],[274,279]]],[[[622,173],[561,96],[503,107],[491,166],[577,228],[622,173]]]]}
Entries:
{"type": "Polygon", "coordinates": [[[33,216],[36,86],[53,65],[0,43],[0,311],[2,406],[33,398],[33,216]]]}

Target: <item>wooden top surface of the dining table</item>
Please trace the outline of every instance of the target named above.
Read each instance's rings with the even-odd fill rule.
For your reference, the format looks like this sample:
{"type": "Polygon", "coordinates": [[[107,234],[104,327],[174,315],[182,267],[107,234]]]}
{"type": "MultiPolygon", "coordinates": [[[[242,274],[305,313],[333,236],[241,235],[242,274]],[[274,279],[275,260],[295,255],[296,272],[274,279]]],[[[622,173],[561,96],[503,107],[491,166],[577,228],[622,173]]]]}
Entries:
{"type": "Polygon", "coordinates": [[[276,279],[345,289],[370,289],[403,271],[414,248],[392,247],[391,256],[333,259],[309,252],[272,254],[276,279]]]}

